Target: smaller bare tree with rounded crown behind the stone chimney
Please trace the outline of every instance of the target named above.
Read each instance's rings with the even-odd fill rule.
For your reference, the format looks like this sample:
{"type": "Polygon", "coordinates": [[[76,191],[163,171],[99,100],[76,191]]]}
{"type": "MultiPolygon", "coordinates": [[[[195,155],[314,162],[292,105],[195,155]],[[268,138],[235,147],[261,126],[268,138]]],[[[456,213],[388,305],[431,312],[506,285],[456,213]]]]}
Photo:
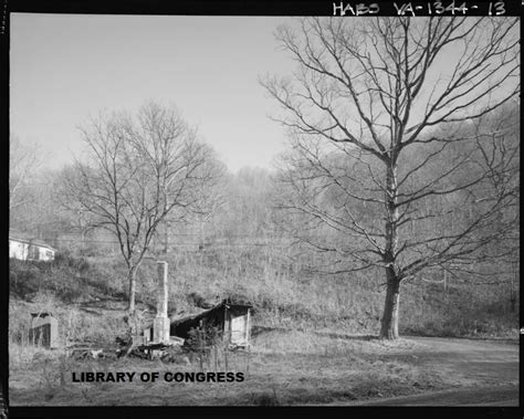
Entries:
{"type": "Polygon", "coordinates": [[[70,202],[111,231],[127,265],[130,314],[136,273],[160,223],[171,213],[198,211],[202,184],[219,174],[212,149],[201,143],[174,107],[144,105],[133,117],[101,114],[81,127],[86,160],[66,179],[70,202]]]}

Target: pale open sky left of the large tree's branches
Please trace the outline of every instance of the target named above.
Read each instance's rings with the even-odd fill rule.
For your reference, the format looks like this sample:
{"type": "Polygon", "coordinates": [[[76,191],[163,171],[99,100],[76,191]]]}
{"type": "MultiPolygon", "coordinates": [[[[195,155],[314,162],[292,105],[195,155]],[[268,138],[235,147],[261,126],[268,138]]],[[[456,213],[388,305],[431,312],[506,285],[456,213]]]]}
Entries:
{"type": "Polygon", "coordinates": [[[14,13],[11,133],[60,168],[90,114],[155,99],[176,104],[232,171],[271,168],[285,137],[258,76],[292,70],[273,36],[284,20],[14,13]]]}

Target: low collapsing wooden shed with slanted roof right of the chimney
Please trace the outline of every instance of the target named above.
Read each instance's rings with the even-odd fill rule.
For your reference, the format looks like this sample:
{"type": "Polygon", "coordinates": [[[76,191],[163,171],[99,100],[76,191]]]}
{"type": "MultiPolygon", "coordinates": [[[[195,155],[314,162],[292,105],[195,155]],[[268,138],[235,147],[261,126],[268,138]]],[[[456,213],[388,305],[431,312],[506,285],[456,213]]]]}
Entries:
{"type": "Polygon", "coordinates": [[[217,327],[232,346],[247,347],[250,341],[251,304],[223,300],[205,312],[171,321],[170,335],[189,337],[191,328],[217,327]]]}

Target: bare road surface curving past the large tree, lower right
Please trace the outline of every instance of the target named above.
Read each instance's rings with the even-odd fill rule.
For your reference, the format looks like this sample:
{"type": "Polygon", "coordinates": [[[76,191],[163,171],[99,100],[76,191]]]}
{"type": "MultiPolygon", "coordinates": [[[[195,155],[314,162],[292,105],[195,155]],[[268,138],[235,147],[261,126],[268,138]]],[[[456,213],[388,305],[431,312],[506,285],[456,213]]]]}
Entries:
{"type": "Polygon", "coordinates": [[[425,346],[411,360],[443,373],[449,390],[352,402],[366,406],[518,406],[518,342],[406,337],[425,346]]]}

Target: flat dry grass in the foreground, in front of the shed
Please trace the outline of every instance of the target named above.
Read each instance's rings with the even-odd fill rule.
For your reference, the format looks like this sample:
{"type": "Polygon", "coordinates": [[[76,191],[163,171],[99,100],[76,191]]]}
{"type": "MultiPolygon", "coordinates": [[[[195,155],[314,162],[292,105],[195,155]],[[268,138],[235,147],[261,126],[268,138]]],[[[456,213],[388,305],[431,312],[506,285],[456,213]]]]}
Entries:
{"type": "MultiPolygon", "coordinates": [[[[420,347],[402,339],[385,343],[367,336],[266,332],[253,341],[250,354],[228,354],[228,370],[242,371],[247,379],[224,384],[74,384],[72,371],[159,371],[163,376],[201,367],[197,360],[192,365],[77,362],[57,352],[35,350],[31,356],[23,350],[14,345],[10,353],[13,406],[305,405],[408,395],[443,386],[436,373],[410,362],[409,354],[420,347]]],[[[219,354],[218,370],[226,369],[223,356],[219,354]]],[[[203,368],[213,370],[214,362],[203,368]]]]}

